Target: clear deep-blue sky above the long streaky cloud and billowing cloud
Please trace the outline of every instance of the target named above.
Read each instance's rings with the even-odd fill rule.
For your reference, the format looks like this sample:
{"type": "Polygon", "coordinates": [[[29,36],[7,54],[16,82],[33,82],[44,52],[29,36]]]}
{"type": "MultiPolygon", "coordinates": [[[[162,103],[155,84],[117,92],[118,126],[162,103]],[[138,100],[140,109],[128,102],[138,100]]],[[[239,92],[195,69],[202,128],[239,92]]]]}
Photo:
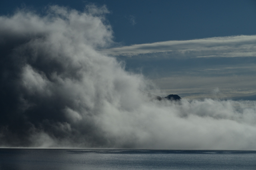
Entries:
{"type": "Polygon", "coordinates": [[[114,40],[123,45],[256,34],[253,0],[10,0],[0,2],[0,14],[52,4],[82,11],[88,3],[107,6],[114,40]]]}

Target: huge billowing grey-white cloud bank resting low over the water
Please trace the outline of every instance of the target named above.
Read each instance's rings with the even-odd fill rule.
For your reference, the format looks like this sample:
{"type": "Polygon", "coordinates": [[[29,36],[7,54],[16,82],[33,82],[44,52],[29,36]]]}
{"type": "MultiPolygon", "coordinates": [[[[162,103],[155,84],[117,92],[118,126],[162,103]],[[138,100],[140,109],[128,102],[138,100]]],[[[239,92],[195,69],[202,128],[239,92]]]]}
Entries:
{"type": "Polygon", "coordinates": [[[0,146],[250,149],[256,102],[149,99],[152,85],[98,49],[105,7],[0,17],[0,146]]]}

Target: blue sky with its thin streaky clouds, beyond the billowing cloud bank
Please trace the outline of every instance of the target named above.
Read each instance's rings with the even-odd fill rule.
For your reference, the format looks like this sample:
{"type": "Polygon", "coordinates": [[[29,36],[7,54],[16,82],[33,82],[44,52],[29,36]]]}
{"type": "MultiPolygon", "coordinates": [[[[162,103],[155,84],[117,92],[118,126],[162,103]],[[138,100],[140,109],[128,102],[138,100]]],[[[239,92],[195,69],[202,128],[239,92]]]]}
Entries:
{"type": "Polygon", "coordinates": [[[90,3],[110,11],[106,18],[116,44],[103,53],[124,61],[127,71],[142,73],[161,89],[150,92],[255,99],[253,0],[12,0],[0,2],[0,14],[24,7],[43,14],[53,4],[82,11],[90,3]]]}

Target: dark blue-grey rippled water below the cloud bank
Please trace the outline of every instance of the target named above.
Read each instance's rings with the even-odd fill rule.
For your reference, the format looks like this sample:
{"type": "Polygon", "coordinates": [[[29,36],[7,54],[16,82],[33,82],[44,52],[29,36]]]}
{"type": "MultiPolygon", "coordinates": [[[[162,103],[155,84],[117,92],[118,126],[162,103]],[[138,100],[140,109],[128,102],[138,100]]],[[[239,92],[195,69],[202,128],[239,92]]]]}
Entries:
{"type": "Polygon", "coordinates": [[[0,149],[0,170],[256,170],[256,151],[0,149]]]}

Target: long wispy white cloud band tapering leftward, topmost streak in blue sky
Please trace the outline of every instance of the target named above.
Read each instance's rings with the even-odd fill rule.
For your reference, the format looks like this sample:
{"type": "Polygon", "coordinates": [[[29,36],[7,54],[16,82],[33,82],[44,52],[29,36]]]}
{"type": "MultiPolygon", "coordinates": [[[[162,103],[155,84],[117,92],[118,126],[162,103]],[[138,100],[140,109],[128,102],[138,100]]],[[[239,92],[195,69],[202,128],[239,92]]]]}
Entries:
{"type": "Polygon", "coordinates": [[[135,44],[102,51],[108,55],[147,57],[255,57],[256,35],[237,35],[212,37],[182,41],[163,41],[156,43],[135,44]],[[159,55],[162,53],[162,55],[159,55]],[[156,55],[157,54],[157,55],[156,55]]]}

